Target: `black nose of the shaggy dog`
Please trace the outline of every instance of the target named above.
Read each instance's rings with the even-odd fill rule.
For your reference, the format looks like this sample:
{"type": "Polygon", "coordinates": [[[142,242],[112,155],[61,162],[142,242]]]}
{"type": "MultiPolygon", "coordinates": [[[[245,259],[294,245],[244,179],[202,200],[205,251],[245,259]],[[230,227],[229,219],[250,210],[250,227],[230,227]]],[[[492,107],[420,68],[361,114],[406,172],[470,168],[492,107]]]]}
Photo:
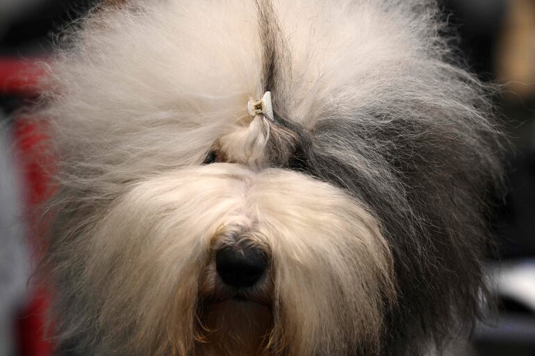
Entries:
{"type": "Polygon", "coordinates": [[[268,256],[258,246],[224,246],[215,255],[217,273],[227,285],[251,287],[268,266],[268,256]]]}

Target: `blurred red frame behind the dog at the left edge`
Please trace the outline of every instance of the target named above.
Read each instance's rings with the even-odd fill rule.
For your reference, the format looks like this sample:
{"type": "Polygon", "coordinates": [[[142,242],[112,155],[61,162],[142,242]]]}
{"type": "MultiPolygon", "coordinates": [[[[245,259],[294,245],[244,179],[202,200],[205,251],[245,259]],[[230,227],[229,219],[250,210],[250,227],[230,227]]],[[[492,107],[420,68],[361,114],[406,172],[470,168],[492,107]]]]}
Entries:
{"type": "MultiPolygon", "coordinates": [[[[20,96],[23,99],[38,96],[37,84],[44,73],[36,65],[37,62],[42,60],[0,58],[0,94],[20,96]]],[[[50,192],[49,176],[43,169],[51,163],[51,158],[46,157],[42,149],[46,136],[38,124],[23,119],[15,121],[13,133],[19,151],[19,165],[26,180],[26,207],[28,212],[33,212],[50,192]]],[[[34,246],[31,255],[35,256],[34,263],[38,264],[42,255],[39,241],[41,222],[30,221],[30,224],[28,238],[31,241],[28,245],[34,246]]],[[[32,287],[28,305],[17,321],[18,356],[49,356],[53,352],[53,344],[46,335],[50,296],[42,287],[32,287]]]]}

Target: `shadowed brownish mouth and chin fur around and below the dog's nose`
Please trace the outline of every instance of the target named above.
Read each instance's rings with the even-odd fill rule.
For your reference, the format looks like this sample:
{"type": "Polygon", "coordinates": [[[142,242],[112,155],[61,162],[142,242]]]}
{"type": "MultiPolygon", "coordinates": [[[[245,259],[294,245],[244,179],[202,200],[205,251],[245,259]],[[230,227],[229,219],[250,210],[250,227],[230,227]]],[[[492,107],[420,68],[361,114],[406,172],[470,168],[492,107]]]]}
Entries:
{"type": "Polygon", "coordinates": [[[204,270],[197,300],[195,355],[266,355],[273,325],[273,279],[271,267],[252,287],[225,284],[217,274],[215,253],[238,241],[268,251],[258,232],[227,226],[213,240],[210,262],[204,270]]]}

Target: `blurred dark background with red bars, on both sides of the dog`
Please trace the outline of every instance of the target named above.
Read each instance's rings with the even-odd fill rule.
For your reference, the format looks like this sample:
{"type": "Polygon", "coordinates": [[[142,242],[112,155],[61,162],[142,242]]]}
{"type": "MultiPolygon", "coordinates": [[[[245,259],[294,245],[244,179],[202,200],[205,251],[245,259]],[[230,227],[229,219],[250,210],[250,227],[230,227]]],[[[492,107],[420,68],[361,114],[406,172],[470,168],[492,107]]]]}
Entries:
{"type": "MultiPolygon", "coordinates": [[[[28,212],[46,198],[38,128],[17,120],[35,99],[40,73],[65,24],[91,0],[0,0],[0,356],[49,356],[48,296],[30,278],[39,260],[37,222],[28,212]]],[[[488,263],[500,307],[452,356],[535,356],[535,0],[441,0],[461,56],[486,82],[509,131],[509,191],[491,219],[499,246],[488,263]]]]}

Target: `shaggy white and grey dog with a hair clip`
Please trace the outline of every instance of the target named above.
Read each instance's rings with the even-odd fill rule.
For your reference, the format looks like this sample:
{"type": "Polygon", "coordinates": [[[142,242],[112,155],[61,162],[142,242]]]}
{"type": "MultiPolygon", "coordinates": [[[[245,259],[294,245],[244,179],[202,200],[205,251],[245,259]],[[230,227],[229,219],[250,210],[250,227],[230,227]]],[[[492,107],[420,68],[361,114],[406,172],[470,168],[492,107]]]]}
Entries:
{"type": "Polygon", "coordinates": [[[500,135],[434,1],[120,2],[39,112],[60,351],[417,356],[470,328],[500,135]]]}

